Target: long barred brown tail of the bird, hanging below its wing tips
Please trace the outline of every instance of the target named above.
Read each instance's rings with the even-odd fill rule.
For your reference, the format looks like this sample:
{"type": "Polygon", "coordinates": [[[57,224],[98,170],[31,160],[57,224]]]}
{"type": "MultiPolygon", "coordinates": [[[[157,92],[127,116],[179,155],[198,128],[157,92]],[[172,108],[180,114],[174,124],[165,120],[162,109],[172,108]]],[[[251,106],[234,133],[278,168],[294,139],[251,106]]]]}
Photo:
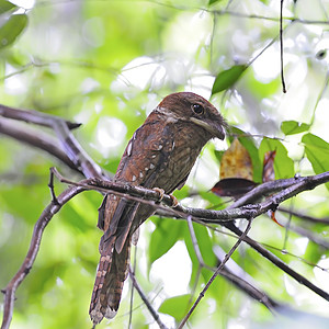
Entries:
{"type": "Polygon", "coordinates": [[[120,253],[115,250],[115,236],[101,240],[101,259],[92,291],[89,315],[94,325],[103,317],[112,319],[117,311],[123,284],[128,274],[131,238],[120,253]]]}

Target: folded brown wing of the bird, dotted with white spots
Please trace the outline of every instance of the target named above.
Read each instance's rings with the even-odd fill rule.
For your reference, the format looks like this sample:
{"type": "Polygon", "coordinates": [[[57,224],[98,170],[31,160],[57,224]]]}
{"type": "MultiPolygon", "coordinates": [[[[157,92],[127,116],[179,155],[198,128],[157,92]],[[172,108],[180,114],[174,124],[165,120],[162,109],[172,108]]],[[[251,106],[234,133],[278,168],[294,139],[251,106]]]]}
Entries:
{"type": "MultiPolygon", "coordinates": [[[[157,178],[166,169],[173,145],[173,134],[168,126],[163,126],[157,120],[146,121],[129,140],[118,164],[115,180],[150,189],[161,188],[157,185],[157,178]]],[[[116,236],[115,249],[118,253],[131,231],[139,205],[140,203],[126,197],[121,197],[115,202],[112,202],[110,197],[110,203],[105,205],[104,217],[101,220],[104,222],[104,238],[106,240],[113,235],[116,236]],[[114,212],[113,208],[115,208],[114,212]]],[[[139,214],[143,217],[138,218],[139,224],[154,212],[152,207],[147,209],[139,214]]],[[[134,230],[138,225],[135,226],[134,230]]]]}

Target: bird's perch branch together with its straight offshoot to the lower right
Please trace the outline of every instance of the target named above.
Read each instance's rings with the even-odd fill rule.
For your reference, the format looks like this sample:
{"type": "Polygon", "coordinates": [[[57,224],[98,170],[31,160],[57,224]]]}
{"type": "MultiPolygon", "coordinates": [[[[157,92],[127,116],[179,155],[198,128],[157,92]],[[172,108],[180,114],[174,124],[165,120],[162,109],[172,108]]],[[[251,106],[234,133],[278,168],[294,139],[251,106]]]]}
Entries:
{"type": "MultiPolygon", "coordinates": [[[[273,183],[273,185],[277,188],[277,184],[282,182],[282,184],[285,186],[285,183],[291,182],[291,180],[292,179],[280,180],[270,183],[273,183]]],[[[137,201],[139,197],[139,202],[141,203],[149,203],[150,201],[152,201],[159,203],[159,204],[152,203],[152,206],[155,206],[156,208],[169,209],[172,213],[172,215],[175,217],[186,218],[188,216],[192,216],[193,220],[220,224],[240,237],[242,235],[242,231],[234,225],[232,219],[238,219],[238,218],[248,219],[248,218],[257,217],[268,212],[269,209],[275,209],[279,206],[279,204],[282,203],[283,201],[292,196],[295,196],[303,191],[311,190],[319,184],[328,182],[329,172],[324,172],[317,175],[309,175],[304,178],[302,177],[294,178],[293,180],[295,181],[294,185],[290,185],[283,191],[268,197],[262,203],[241,206],[240,208],[224,209],[224,211],[190,208],[190,207],[184,207],[182,205],[177,205],[174,206],[174,208],[168,208],[168,206],[169,207],[172,206],[172,200],[169,195],[164,194],[163,197],[161,198],[159,196],[159,193],[154,190],[148,190],[141,186],[131,186],[127,184],[121,184],[116,182],[100,181],[98,179],[86,180],[83,182],[83,186],[86,189],[98,190],[101,192],[107,191],[107,193],[109,192],[118,193],[120,195],[125,195],[125,197],[128,198],[133,197],[133,200],[137,200],[137,201]]],[[[66,183],[72,183],[65,179],[63,181],[66,183]]],[[[73,183],[73,184],[79,185],[80,183],[73,183]]],[[[266,186],[269,186],[269,183],[266,183],[266,186]]],[[[322,298],[329,302],[329,294],[327,292],[322,291],[318,286],[314,285],[306,277],[295,272],[287,264],[285,264],[280,258],[271,253],[269,250],[266,250],[265,248],[263,248],[261,245],[259,245],[257,241],[252,240],[249,237],[246,237],[245,241],[254,250],[257,250],[260,254],[262,254],[264,258],[270,260],[273,264],[279,266],[282,271],[284,271],[290,276],[295,279],[298,283],[307,286],[314,293],[318,294],[319,296],[321,296],[322,298]]]]}

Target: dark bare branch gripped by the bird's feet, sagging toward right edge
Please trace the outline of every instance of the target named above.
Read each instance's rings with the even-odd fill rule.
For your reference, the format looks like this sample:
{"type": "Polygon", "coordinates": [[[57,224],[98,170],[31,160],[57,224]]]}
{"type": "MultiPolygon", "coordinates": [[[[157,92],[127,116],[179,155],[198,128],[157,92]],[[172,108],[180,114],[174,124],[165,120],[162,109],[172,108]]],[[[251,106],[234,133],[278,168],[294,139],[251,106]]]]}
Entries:
{"type": "MultiPolygon", "coordinates": [[[[174,206],[173,208],[169,209],[173,216],[178,215],[179,217],[186,218],[186,216],[190,215],[193,217],[193,219],[202,219],[203,222],[213,223],[213,224],[223,224],[224,222],[231,222],[232,219],[238,219],[238,218],[249,219],[249,218],[257,217],[261,214],[264,214],[269,209],[276,209],[282,202],[299,194],[300,192],[313,190],[316,186],[324,184],[328,181],[329,181],[329,171],[316,175],[299,177],[294,179],[285,179],[285,180],[277,180],[274,182],[268,182],[263,184],[266,186],[266,190],[268,189],[270,190],[272,186],[274,191],[279,191],[279,190],[282,191],[268,197],[265,201],[258,204],[251,204],[251,205],[236,207],[236,208],[231,208],[230,206],[223,211],[211,211],[211,209],[203,209],[203,208],[184,207],[180,204],[173,205],[172,197],[170,195],[164,194],[163,196],[160,196],[159,193],[156,192],[155,190],[145,189],[143,186],[132,186],[129,184],[123,184],[113,181],[103,181],[97,178],[86,180],[83,181],[83,183],[81,182],[75,183],[70,180],[61,178],[61,182],[78,185],[78,186],[83,186],[87,190],[97,190],[105,193],[111,192],[114,194],[125,195],[128,198],[141,203],[150,203],[150,201],[157,202],[159,204],[157,205],[152,204],[157,208],[161,208],[163,207],[163,205],[169,207],[174,206]]],[[[260,185],[260,188],[261,186],[262,185],[260,185]]]]}

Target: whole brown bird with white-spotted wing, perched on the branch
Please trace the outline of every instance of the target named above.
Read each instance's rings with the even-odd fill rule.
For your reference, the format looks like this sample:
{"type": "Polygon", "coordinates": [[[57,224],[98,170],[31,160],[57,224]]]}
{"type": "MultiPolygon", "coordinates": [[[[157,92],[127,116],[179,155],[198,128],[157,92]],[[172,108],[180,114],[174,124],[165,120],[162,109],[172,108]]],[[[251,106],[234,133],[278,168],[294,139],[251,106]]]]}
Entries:
{"type": "MultiPolygon", "coordinates": [[[[203,146],[224,139],[226,123],[204,98],[192,92],[166,97],[134,133],[114,180],[162,189],[181,189],[203,146]]],[[[100,207],[101,259],[90,304],[94,325],[117,311],[129,263],[132,236],[155,207],[107,194],[100,207]]]]}

